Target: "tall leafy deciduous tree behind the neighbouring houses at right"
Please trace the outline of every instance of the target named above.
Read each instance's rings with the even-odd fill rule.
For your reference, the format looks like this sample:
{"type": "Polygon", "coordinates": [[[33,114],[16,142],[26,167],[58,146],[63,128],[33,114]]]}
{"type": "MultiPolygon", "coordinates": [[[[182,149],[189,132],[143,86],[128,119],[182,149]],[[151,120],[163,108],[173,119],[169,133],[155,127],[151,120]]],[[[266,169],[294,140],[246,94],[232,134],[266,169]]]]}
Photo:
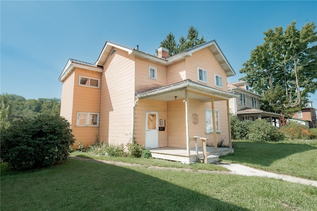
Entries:
{"type": "Polygon", "coordinates": [[[266,109],[290,114],[300,109],[317,89],[317,32],[315,23],[301,31],[291,22],[283,31],[275,27],[264,32],[264,44],[251,52],[240,73],[253,91],[263,96],[266,109]]]}

